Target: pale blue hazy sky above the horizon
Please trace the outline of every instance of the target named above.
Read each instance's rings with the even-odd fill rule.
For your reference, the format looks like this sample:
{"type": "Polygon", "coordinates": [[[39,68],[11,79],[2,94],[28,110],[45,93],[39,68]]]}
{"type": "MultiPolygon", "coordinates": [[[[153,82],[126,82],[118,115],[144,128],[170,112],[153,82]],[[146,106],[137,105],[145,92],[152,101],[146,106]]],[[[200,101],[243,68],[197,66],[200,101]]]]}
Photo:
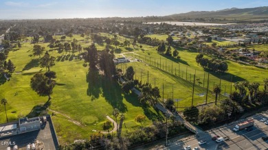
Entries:
{"type": "Polygon", "coordinates": [[[267,0],[0,0],[0,19],[165,16],[268,6],[267,0]]]}

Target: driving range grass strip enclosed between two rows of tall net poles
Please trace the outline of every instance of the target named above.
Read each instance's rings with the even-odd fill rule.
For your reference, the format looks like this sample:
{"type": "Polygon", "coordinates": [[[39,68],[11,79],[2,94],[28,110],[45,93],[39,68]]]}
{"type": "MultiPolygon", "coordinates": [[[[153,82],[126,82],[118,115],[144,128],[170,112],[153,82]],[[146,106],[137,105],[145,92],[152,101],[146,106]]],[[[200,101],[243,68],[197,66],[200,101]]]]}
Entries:
{"type": "MultiPolygon", "coordinates": [[[[130,62],[125,64],[118,64],[118,68],[122,68],[122,70],[126,71],[126,68],[129,66],[133,66],[135,70],[134,79],[139,79],[142,84],[145,84],[147,81],[151,84],[152,87],[157,86],[160,90],[161,98],[159,101],[164,101],[168,98],[172,99],[180,99],[179,102],[175,101],[175,106],[179,108],[189,107],[192,101],[192,84],[189,82],[185,82],[175,75],[171,75],[170,73],[166,73],[165,71],[161,71],[154,66],[150,66],[148,64],[144,64],[143,62],[130,62]],[[163,84],[164,84],[164,95],[163,95],[163,84]],[[172,86],[173,92],[172,93],[172,86]]],[[[193,77],[192,77],[193,78],[193,77]]],[[[193,79],[192,79],[193,80],[193,79]]],[[[198,88],[195,86],[194,88],[194,105],[200,105],[204,103],[205,97],[200,97],[198,94],[206,92],[203,88],[198,88]]],[[[209,92],[208,95],[208,103],[213,102],[214,95],[209,92]]]]}

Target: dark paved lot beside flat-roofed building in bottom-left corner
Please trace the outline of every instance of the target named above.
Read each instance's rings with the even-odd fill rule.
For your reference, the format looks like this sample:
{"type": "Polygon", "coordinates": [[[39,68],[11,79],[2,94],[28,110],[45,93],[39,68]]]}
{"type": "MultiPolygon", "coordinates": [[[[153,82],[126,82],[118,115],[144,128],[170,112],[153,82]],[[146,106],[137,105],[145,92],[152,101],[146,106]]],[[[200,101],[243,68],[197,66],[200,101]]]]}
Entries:
{"type": "Polygon", "coordinates": [[[56,150],[58,148],[56,134],[54,133],[50,117],[47,118],[47,123],[41,130],[0,138],[0,149],[13,148],[14,145],[17,145],[19,149],[26,149],[26,146],[34,143],[36,139],[44,142],[46,150],[56,150]]]}

